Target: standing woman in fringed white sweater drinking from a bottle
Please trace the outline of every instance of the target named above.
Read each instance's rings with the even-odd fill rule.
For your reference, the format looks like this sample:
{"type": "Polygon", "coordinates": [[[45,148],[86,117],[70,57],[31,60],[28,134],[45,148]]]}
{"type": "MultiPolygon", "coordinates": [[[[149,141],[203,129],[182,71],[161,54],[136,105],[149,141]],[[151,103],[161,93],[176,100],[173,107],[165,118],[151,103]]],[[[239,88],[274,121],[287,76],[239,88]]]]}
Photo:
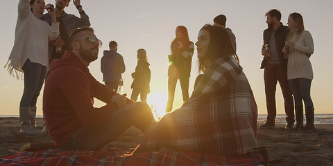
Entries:
{"type": "Polygon", "coordinates": [[[11,75],[19,78],[22,72],[24,74],[24,92],[19,106],[21,133],[42,133],[36,127],[36,102],[48,68],[49,40],[59,35],[53,6],[46,9],[52,17],[52,26],[40,19],[44,6],[44,0],[19,0],[15,42],[6,64],[11,75]]]}

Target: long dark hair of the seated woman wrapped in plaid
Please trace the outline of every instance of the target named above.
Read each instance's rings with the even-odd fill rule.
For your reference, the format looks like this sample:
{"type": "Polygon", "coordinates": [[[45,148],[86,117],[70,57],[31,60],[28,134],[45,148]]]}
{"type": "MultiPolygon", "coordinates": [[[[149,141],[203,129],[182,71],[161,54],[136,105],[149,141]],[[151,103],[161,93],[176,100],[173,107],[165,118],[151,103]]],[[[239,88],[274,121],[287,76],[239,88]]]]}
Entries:
{"type": "Polygon", "coordinates": [[[204,73],[207,70],[205,59],[211,59],[214,62],[220,57],[225,59],[225,61],[234,58],[239,63],[239,58],[232,47],[230,35],[225,28],[206,24],[200,30],[207,30],[210,33],[210,44],[205,57],[198,60],[199,73],[200,71],[204,73]]]}

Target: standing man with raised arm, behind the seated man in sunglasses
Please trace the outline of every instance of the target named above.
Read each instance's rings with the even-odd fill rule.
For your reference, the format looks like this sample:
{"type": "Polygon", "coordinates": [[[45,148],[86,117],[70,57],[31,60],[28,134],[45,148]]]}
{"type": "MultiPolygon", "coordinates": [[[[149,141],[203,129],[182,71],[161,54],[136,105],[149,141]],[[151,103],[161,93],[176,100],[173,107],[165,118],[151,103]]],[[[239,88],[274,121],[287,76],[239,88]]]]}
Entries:
{"type": "MultiPolygon", "coordinates": [[[[64,55],[65,50],[71,50],[69,48],[69,35],[73,30],[83,26],[90,26],[89,17],[85,14],[82,6],[80,5],[80,0],[73,0],[74,6],[78,9],[80,13],[80,18],[75,15],[67,14],[64,9],[69,6],[71,0],[56,0],[56,17],[59,22],[60,35],[58,39],[49,42],[49,63],[53,59],[60,59],[64,55]]],[[[46,13],[40,17],[40,19],[47,21],[51,24],[51,16],[46,13]]],[[[49,73],[48,73],[49,75],[49,73]]]]}

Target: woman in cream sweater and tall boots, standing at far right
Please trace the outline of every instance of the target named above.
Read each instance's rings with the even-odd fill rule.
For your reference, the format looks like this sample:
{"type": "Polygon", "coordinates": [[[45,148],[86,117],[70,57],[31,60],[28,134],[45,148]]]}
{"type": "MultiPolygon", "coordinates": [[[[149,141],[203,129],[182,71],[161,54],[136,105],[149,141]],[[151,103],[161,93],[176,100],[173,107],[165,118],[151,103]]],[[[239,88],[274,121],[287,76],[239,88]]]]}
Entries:
{"type": "Polygon", "coordinates": [[[307,124],[304,129],[314,129],[314,104],[311,100],[311,81],[314,78],[309,57],[314,53],[314,40],[305,30],[302,15],[297,12],[288,17],[290,33],[282,52],[288,58],[287,77],[295,100],[296,127],[303,128],[303,104],[307,124]]]}

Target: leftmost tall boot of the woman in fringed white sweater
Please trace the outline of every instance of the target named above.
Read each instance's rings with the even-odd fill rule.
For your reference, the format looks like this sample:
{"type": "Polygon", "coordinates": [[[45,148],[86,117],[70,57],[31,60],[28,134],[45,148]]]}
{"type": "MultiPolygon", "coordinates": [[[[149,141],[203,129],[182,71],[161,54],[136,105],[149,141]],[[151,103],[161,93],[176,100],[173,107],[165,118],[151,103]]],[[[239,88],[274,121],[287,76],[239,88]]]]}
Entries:
{"type": "Polygon", "coordinates": [[[19,122],[21,122],[20,133],[40,134],[31,128],[31,107],[19,107],[19,122]]]}

